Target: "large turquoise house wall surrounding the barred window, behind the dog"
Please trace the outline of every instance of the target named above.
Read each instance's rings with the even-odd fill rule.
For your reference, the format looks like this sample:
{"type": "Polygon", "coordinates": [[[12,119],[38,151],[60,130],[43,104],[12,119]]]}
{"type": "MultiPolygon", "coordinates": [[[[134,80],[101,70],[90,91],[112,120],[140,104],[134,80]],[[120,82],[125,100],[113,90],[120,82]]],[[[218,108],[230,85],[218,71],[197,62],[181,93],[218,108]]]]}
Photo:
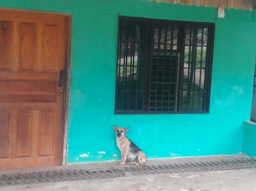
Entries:
{"type": "Polygon", "coordinates": [[[119,159],[111,125],[148,158],[238,154],[250,119],[253,12],[140,0],[1,0],[1,7],[72,14],[68,163],[119,159]],[[114,115],[118,15],[216,23],[209,114],[114,115]]]}

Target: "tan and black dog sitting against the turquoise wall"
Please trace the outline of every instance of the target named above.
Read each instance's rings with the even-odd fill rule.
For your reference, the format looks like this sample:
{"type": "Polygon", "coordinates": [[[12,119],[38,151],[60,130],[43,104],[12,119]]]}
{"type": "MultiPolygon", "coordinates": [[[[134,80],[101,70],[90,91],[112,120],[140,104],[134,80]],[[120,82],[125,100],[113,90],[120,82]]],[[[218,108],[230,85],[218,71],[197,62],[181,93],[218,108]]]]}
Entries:
{"type": "Polygon", "coordinates": [[[118,162],[122,165],[125,162],[128,162],[130,164],[135,164],[136,166],[144,166],[146,163],[145,153],[125,135],[129,128],[120,128],[113,125],[113,129],[116,132],[116,144],[120,149],[122,156],[121,160],[118,162]]]}

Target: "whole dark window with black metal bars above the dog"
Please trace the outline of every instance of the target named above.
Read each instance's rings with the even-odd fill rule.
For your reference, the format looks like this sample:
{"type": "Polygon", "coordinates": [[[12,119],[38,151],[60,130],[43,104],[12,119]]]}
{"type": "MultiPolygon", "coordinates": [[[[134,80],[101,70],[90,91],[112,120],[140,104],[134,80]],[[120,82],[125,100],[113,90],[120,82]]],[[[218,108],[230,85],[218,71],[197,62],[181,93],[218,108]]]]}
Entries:
{"type": "Polygon", "coordinates": [[[115,114],[209,113],[214,24],[119,17],[115,114]]]}

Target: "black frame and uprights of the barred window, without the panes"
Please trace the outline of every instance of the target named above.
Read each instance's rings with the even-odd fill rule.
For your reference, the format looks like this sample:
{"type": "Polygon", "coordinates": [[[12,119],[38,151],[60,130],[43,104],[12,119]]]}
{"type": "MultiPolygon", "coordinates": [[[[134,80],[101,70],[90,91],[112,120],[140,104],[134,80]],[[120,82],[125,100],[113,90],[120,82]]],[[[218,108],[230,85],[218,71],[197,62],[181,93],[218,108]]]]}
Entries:
{"type": "MultiPolygon", "coordinates": [[[[178,37],[177,37],[178,38],[178,37]]],[[[197,40],[197,39],[196,39],[197,40]]],[[[132,17],[132,16],[119,16],[119,20],[118,20],[118,45],[117,45],[117,56],[116,56],[116,81],[115,81],[115,105],[114,105],[114,114],[115,115],[140,115],[140,114],[143,114],[143,115],[155,115],[155,114],[208,114],[210,112],[210,97],[211,97],[211,81],[212,81],[212,65],[213,65],[213,54],[214,54],[214,41],[215,41],[215,23],[209,23],[209,22],[189,22],[189,21],[177,21],[177,20],[163,20],[163,19],[150,19],[150,18],[138,18],[138,17],[132,17]],[[145,97],[147,99],[147,101],[144,100],[144,102],[142,103],[142,108],[143,108],[143,111],[137,111],[135,110],[117,110],[117,99],[118,99],[118,95],[117,95],[117,92],[118,92],[118,65],[119,65],[119,45],[121,44],[119,42],[119,38],[120,38],[120,23],[122,21],[122,19],[133,19],[133,20],[142,20],[144,22],[148,22],[150,23],[150,27],[149,27],[149,39],[148,42],[146,42],[147,44],[147,62],[148,62],[148,65],[146,66],[147,68],[150,68],[146,71],[146,76],[144,77],[144,81],[145,81],[145,87],[144,87],[144,94],[145,94],[145,97]],[[173,111],[173,112],[150,112],[149,111],[149,103],[148,103],[148,99],[150,97],[150,72],[152,72],[152,69],[151,69],[151,61],[150,61],[150,58],[152,57],[152,47],[154,47],[154,40],[152,39],[152,30],[153,30],[153,27],[152,27],[152,22],[154,21],[159,21],[159,22],[175,22],[175,23],[178,23],[179,25],[182,25],[183,29],[181,30],[181,34],[180,34],[180,40],[182,41],[182,44],[179,46],[178,42],[177,42],[177,53],[180,53],[181,54],[181,59],[180,59],[180,62],[181,63],[184,63],[184,52],[185,52],[185,31],[186,29],[184,29],[184,27],[186,26],[186,24],[190,24],[190,25],[208,25],[210,29],[210,35],[208,34],[209,31],[207,31],[207,49],[206,49],[206,60],[207,60],[207,63],[208,63],[208,75],[207,78],[208,80],[206,80],[204,78],[204,82],[207,81],[207,87],[206,87],[206,96],[205,96],[205,99],[206,101],[205,102],[205,109],[204,111],[192,111],[192,112],[188,112],[188,111],[173,111]],[[209,38],[210,36],[210,38],[209,38]],[[184,41],[184,42],[183,42],[184,41]],[[153,45],[152,45],[153,44],[153,45]],[[179,48],[181,49],[181,51],[178,51],[179,48]],[[210,49],[210,50],[208,50],[210,49]],[[207,52],[210,54],[207,56],[207,52]]],[[[190,45],[189,45],[190,46],[190,45]]],[[[197,47],[197,43],[196,43],[196,47],[197,47]]],[[[171,51],[172,53],[175,52],[174,50],[171,51]]],[[[202,55],[201,55],[202,56],[202,55]]],[[[201,62],[202,62],[202,59],[201,59],[201,62]]],[[[179,71],[179,74],[180,76],[183,74],[183,71],[184,71],[184,64],[180,64],[180,68],[181,70],[179,71]]],[[[201,70],[201,69],[200,69],[201,70]]],[[[206,69],[205,69],[206,70],[206,69]]],[[[136,74],[137,75],[137,74],[136,74]]],[[[200,73],[201,75],[201,73],[200,73]]],[[[177,78],[177,77],[176,77],[177,78]]],[[[180,92],[183,91],[183,79],[184,77],[180,77],[180,83],[179,83],[179,86],[180,86],[180,92]]],[[[170,84],[169,84],[170,85],[170,84]]],[[[175,83],[176,85],[176,83],[175,83]]],[[[131,91],[131,90],[129,90],[131,91]]],[[[137,91],[137,90],[136,90],[137,91]]],[[[170,91],[170,90],[169,90],[170,91]]],[[[195,91],[195,90],[194,90],[195,91]]],[[[123,95],[124,96],[124,95],[123,95]]],[[[180,93],[180,95],[177,96],[177,99],[181,99],[182,97],[182,93],[180,93]]],[[[137,101],[137,98],[136,98],[136,101],[137,101]]],[[[182,104],[182,101],[177,101],[177,103],[179,104],[179,109],[181,110],[182,106],[180,104],[182,104]]],[[[199,105],[199,103],[198,103],[199,105]]],[[[168,106],[169,107],[169,106],[168,106]]],[[[192,109],[193,110],[193,109],[192,109]]]]}

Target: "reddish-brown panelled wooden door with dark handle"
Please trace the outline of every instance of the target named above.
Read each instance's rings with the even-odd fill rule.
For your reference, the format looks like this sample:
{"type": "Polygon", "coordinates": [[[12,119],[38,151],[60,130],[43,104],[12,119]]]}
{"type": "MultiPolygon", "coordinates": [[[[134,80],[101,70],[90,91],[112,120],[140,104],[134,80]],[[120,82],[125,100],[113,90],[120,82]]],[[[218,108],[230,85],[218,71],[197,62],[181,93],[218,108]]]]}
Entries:
{"type": "Polygon", "coordinates": [[[67,17],[0,9],[0,168],[61,164],[67,17]]]}

